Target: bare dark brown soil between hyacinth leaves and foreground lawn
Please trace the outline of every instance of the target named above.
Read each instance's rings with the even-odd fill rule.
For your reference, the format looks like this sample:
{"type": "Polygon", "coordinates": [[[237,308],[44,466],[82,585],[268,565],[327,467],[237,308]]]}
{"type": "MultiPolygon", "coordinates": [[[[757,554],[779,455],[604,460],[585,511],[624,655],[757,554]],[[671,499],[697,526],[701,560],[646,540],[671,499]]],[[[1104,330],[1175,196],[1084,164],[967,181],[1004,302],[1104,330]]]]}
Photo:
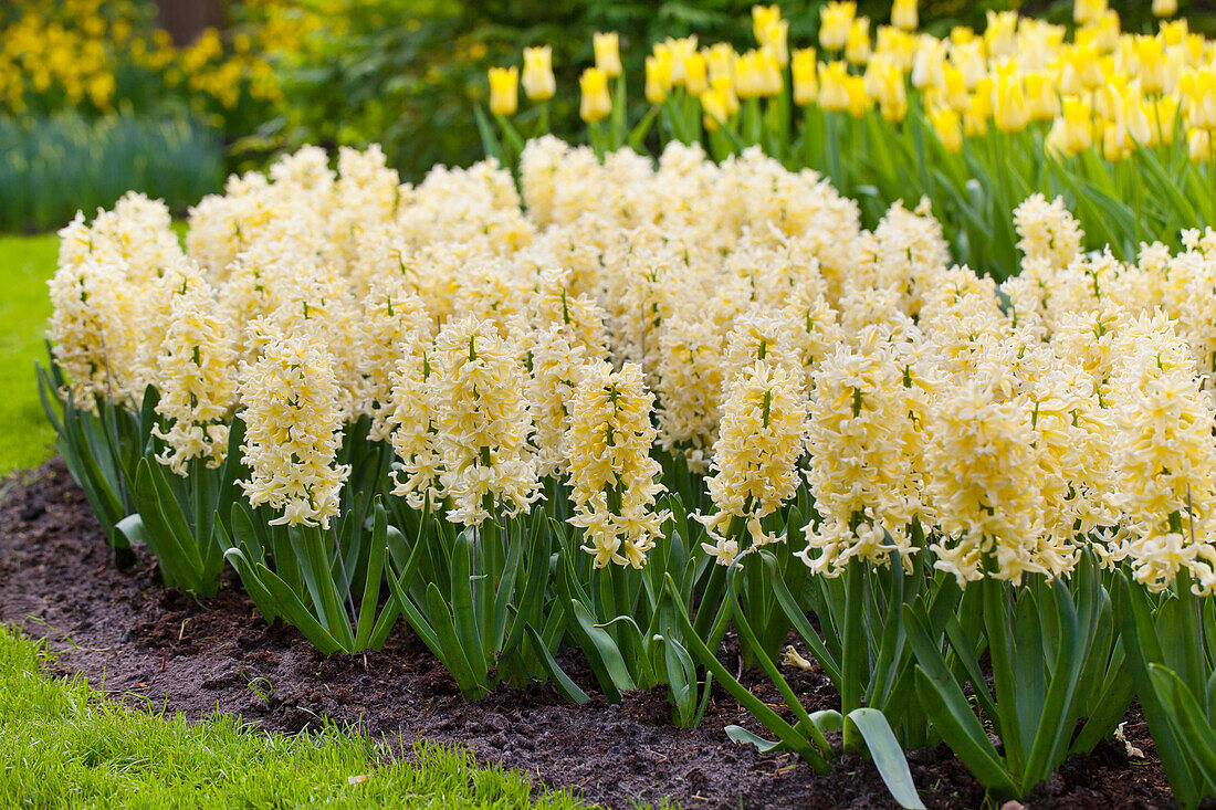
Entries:
{"type": "MultiPolygon", "coordinates": [[[[292,628],[268,625],[235,586],[199,601],[162,587],[147,556],[116,569],[83,494],[58,461],[0,486],[0,621],[46,639],[57,674],[84,674],[114,697],[151,701],[193,719],[238,714],[283,732],[328,718],[361,724],[389,741],[399,735],[406,743],[461,744],[480,761],[607,806],[659,804],[665,797],[686,808],[894,806],[873,766],[858,756],[841,756],[818,776],[792,754],[731,743],[724,725],[764,730],[725,692],[715,694],[702,726],[688,730],[671,724],[658,691],[629,694],[620,705],[593,696],[575,707],[534,685],[468,703],[404,624],[381,652],[325,658],[292,628]]],[[[737,666],[737,656],[731,658],[737,666]]],[[[562,663],[593,691],[573,651],[563,651],[562,663]]],[[[766,684],[751,686],[766,703],[781,703],[766,684]]],[[[803,674],[794,687],[809,708],[834,704],[820,675],[803,674]]],[[[1130,760],[1121,746],[1104,744],[1070,759],[1024,804],[1173,806],[1135,710],[1126,732],[1144,759],[1130,760]]],[[[929,806],[984,804],[983,788],[944,748],[912,752],[908,760],[929,806]]]]}

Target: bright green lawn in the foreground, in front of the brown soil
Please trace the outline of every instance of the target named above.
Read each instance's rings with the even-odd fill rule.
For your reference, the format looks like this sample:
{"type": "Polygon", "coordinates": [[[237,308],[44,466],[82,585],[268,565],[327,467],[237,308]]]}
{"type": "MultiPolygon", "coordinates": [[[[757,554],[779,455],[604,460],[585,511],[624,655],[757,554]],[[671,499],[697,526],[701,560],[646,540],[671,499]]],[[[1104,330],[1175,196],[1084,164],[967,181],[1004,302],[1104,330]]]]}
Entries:
{"type": "Polygon", "coordinates": [[[187,722],[106,699],[83,679],[41,671],[43,648],[0,625],[4,808],[552,808],[518,774],[478,769],[458,749],[416,747],[383,764],[366,735],[270,735],[216,715],[187,722]],[[350,777],[367,778],[350,782],[350,777]]]}

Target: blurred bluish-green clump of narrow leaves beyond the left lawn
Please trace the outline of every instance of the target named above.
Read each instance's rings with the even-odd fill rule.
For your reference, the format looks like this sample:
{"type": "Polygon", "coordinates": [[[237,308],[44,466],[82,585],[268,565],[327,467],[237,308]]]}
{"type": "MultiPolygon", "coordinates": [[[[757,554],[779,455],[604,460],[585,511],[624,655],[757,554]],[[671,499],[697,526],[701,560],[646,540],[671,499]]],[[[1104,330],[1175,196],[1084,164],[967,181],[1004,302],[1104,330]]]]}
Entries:
{"type": "Polygon", "coordinates": [[[0,231],[60,227],[131,190],[181,213],[223,182],[219,136],[180,117],[0,117],[0,231]]]}

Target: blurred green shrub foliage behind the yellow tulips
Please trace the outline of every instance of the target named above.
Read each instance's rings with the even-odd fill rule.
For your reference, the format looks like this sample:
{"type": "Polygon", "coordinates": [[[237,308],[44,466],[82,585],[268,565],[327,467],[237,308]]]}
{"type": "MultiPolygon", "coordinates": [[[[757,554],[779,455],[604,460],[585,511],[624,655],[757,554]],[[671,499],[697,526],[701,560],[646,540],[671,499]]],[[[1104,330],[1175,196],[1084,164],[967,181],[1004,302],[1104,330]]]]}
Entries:
{"type": "MultiPolygon", "coordinates": [[[[316,0],[320,1],[320,0],[316,0]]],[[[332,7],[333,2],[328,2],[332,7]]],[[[482,157],[472,116],[485,102],[485,72],[518,64],[529,45],[551,45],[558,94],[553,131],[578,139],[578,75],[592,63],[591,34],[615,30],[634,80],[634,103],[644,106],[637,83],[649,45],[696,33],[702,43],[754,46],[750,0],[345,0],[347,30],[315,36],[280,64],[287,103],[254,137],[237,145],[238,162],[255,165],[277,148],[319,142],[328,147],[379,142],[406,180],[434,163],[467,165],[482,157]]],[[[781,0],[792,46],[815,43],[818,7],[811,0],[781,0]]],[[[1192,28],[1212,29],[1206,1],[1180,4],[1192,28]]],[[[1125,30],[1152,30],[1148,2],[1114,2],[1125,30]]],[[[945,35],[956,24],[983,29],[990,10],[1018,9],[1053,22],[1071,21],[1071,0],[929,0],[922,29],[945,35]]],[[[888,0],[861,0],[858,13],[874,24],[890,15],[888,0]]],[[[524,128],[536,112],[520,100],[524,128]]],[[[641,117],[635,109],[631,118],[641,117]]]]}

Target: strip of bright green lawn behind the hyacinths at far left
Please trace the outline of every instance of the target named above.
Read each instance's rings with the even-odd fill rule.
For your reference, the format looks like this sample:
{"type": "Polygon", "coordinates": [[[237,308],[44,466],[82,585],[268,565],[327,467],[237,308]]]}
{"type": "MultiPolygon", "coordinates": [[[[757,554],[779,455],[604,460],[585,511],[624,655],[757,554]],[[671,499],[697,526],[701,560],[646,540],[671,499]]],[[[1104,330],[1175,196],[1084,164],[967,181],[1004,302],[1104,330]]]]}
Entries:
{"type": "Polygon", "coordinates": [[[54,234],[0,236],[0,476],[51,456],[54,434],[38,401],[34,361],[46,362],[46,281],[58,244],[54,234]]]}

